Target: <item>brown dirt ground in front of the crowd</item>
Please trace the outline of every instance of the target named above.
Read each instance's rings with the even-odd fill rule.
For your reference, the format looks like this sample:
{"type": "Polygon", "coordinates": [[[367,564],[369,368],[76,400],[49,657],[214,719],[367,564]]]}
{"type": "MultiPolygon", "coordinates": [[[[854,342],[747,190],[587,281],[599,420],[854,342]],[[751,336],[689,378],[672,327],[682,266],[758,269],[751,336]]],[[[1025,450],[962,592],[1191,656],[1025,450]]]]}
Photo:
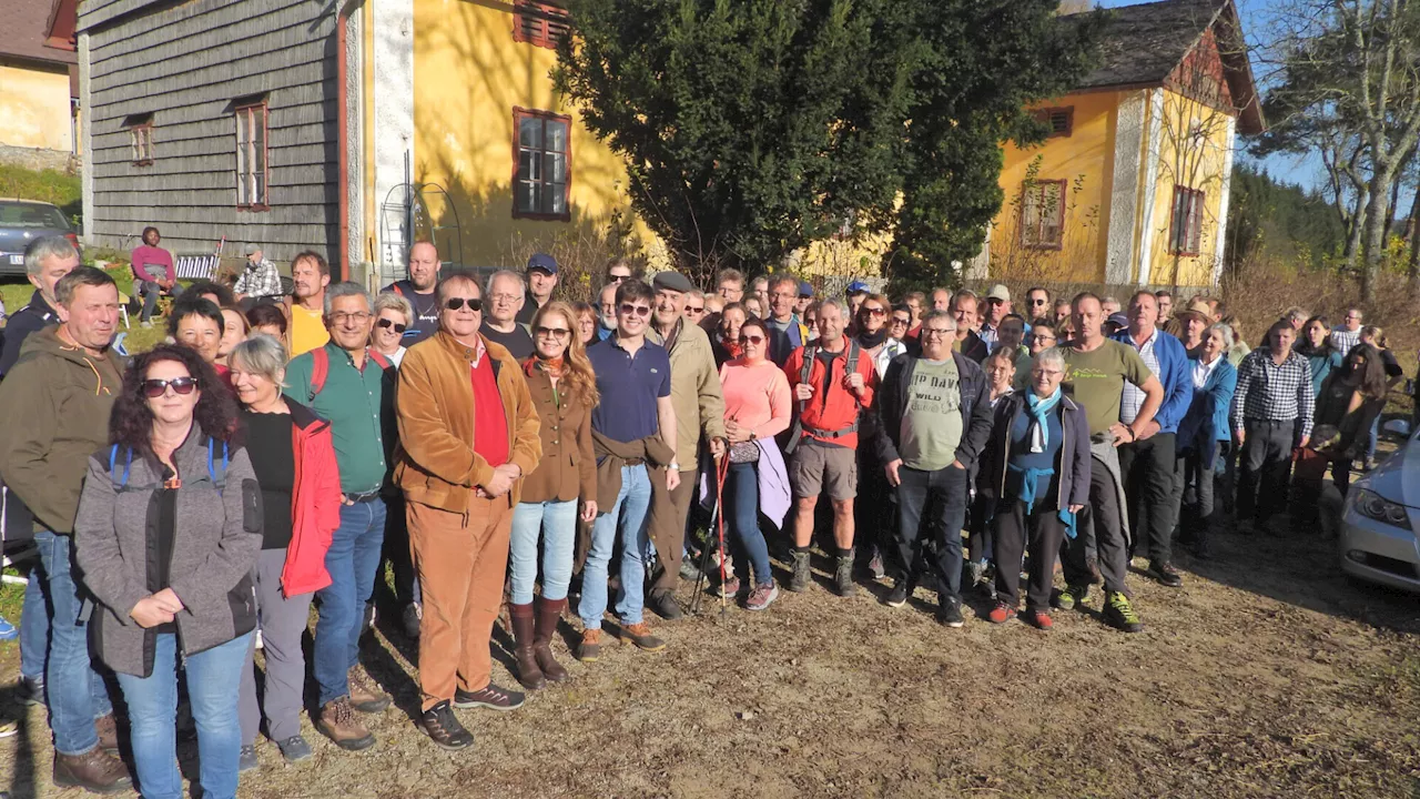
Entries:
{"type": "MultiPolygon", "coordinates": [[[[1349,584],[1333,546],[1224,535],[1214,560],[1179,557],[1181,590],[1135,574],[1137,636],[1098,613],[991,626],[984,603],[949,630],[926,590],[897,610],[886,584],[832,596],[821,559],[819,584],[767,613],[709,600],[659,624],[663,653],[565,657],[572,680],[523,709],[460,711],[462,754],[413,726],[410,643],[382,630],[366,660],[398,707],[372,719],[379,744],[346,754],[307,726],[315,758],[261,745],[241,796],[1420,796],[1420,600],[1349,584]]],[[[43,709],[24,718],[0,789],[81,796],[50,788],[43,709]]]]}

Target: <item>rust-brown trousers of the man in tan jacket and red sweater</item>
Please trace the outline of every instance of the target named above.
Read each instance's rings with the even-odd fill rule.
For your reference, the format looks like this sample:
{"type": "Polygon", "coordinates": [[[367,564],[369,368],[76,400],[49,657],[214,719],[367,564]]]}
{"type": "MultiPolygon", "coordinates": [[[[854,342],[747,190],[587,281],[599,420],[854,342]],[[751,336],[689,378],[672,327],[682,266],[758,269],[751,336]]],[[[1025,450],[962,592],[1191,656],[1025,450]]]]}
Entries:
{"type": "Polygon", "coordinates": [[[469,499],[469,513],[408,506],[409,549],[423,591],[419,690],[423,709],[479,691],[493,677],[488,643],[503,604],[513,532],[510,495],[469,499]]]}

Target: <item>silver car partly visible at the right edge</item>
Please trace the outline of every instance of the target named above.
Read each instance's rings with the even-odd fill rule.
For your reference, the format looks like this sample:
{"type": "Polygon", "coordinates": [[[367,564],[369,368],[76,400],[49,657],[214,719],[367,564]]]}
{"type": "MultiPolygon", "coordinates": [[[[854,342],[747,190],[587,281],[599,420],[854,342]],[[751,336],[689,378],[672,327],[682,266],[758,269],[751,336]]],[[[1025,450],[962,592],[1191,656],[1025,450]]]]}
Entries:
{"type": "Polygon", "coordinates": [[[1350,486],[1342,506],[1340,567],[1420,593],[1420,434],[1350,486]]]}

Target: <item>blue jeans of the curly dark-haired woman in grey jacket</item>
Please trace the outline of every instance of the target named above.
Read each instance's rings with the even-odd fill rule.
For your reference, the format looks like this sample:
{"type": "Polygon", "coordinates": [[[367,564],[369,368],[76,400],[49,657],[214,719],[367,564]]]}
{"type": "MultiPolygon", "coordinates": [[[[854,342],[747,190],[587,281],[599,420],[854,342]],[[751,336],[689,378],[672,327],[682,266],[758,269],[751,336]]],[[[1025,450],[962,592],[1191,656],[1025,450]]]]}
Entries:
{"type": "MultiPolygon", "coordinates": [[[[199,782],[204,799],[237,795],[237,759],[241,725],[237,691],[241,668],[250,668],[251,633],[183,658],[187,701],[197,722],[199,782]]],[[[133,766],[143,799],[182,799],[178,771],[178,636],[160,633],[149,677],[119,674],[118,685],[128,704],[133,766]]]]}

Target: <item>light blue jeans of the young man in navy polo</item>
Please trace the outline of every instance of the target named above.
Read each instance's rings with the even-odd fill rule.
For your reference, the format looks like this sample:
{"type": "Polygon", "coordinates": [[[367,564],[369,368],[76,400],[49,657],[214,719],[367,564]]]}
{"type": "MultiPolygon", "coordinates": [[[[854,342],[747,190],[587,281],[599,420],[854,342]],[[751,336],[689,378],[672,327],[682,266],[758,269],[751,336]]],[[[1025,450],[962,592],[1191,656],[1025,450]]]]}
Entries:
{"type": "Polygon", "coordinates": [[[646,466],[622,466],[622,489],[611,508],[598,508],[592,525],[592,547],[582,567],[582,600],[577,614],[588,630],[602,628],[606,613],[606,572],[616,543],[622,540],[622,584],[616,591],[616,616],[625,624],[640,624],[645,607],[646,559],[650,557],[650,536],[646,535],[650,509],[650,476],[646,466]]]}

